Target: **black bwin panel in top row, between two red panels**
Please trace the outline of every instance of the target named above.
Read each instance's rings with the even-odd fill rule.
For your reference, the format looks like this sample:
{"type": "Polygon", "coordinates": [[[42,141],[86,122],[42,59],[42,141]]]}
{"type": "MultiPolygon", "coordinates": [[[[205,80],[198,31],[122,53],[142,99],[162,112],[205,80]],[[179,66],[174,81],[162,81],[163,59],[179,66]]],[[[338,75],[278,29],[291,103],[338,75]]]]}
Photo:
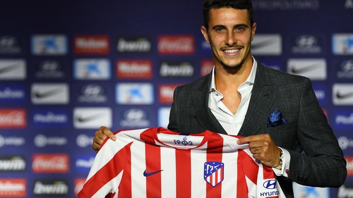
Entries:
{"type": "Polygon", "coordinates": [[[118,52],[148,53],[151,51],[151,40],[146,37],[118,37],[118,52]]]}

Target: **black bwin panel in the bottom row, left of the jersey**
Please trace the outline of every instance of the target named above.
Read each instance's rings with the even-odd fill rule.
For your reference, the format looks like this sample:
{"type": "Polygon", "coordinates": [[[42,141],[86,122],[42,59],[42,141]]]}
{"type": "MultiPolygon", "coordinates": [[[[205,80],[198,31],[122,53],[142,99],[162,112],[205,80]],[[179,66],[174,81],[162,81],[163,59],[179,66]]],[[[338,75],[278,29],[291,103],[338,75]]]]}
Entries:
{"type": "Polygon", "coordinates": [[[41,196],[59,196],[68,194],[68,185],[65,180],[36,180],[33,194],[41,196]]]}

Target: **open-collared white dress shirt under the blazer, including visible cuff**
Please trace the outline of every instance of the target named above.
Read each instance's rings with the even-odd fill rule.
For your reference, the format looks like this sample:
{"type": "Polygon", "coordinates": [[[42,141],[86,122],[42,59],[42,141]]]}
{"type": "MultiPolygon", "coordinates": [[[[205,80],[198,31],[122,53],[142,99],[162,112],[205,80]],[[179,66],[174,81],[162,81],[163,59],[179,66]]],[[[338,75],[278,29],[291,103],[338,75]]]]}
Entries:
{"type": "MultiPolygon", "coordinates": [[[[241,100],[239,107],[235,114],[226,107],[221,101],[223,95],[221,92],[217,91],[215,83],[215,67],[212,69],[212,79],[208,98],[208,108],[211,110],[213,115],[217,118],[218,122],[222,125],[223,129],[228,133],[228,135],[238,135],[241,126],[243,125],[247,109],[249,107],[249,102],[251,98],[251,91],[255,81],[255,74],[257,69],[257,62],[254,57],[252,57],[253,64],[251,72],[245,82],[238,87],[238,92],[241,95],[241,100]]],[[[280,148],[280,147],[279,147],[280,148]]],[[[282,169],[272,168],[276,175],[283,175],[288,177],[285,170],[289,170],[289,161],[291,160],[291,155],[286,149],[280,148],[283,151],[284,160],[282,164],[282,169]],[[288,163],[286,163],[288,162],[288,163]]]]}

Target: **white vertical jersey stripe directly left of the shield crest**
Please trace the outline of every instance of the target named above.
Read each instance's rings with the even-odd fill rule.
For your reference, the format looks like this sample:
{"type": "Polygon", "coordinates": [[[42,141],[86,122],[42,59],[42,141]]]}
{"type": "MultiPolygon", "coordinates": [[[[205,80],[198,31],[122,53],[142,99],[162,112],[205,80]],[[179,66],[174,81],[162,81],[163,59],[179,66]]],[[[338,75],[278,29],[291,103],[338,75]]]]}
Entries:
{"type": "MultiPolygon", "coordinates": [[[[191,197],[205,198],[207,182],[204,179],[204,163],[207,160],[207,143],[197,150],[191,150],[191,197]]],[[[207,178],[210,181],[210,177],[207,178]]]]}

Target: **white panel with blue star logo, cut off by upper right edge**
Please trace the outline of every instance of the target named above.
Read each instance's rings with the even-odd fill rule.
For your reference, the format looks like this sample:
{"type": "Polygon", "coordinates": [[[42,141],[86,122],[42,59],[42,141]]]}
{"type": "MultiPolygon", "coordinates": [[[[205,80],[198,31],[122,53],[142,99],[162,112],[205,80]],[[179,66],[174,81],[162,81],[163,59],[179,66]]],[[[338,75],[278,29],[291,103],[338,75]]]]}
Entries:
{"type": "Polygon", "coordinates": [[[353,33],[333,34],[332,53],[334,55],[353,55],[353,33]]]}

